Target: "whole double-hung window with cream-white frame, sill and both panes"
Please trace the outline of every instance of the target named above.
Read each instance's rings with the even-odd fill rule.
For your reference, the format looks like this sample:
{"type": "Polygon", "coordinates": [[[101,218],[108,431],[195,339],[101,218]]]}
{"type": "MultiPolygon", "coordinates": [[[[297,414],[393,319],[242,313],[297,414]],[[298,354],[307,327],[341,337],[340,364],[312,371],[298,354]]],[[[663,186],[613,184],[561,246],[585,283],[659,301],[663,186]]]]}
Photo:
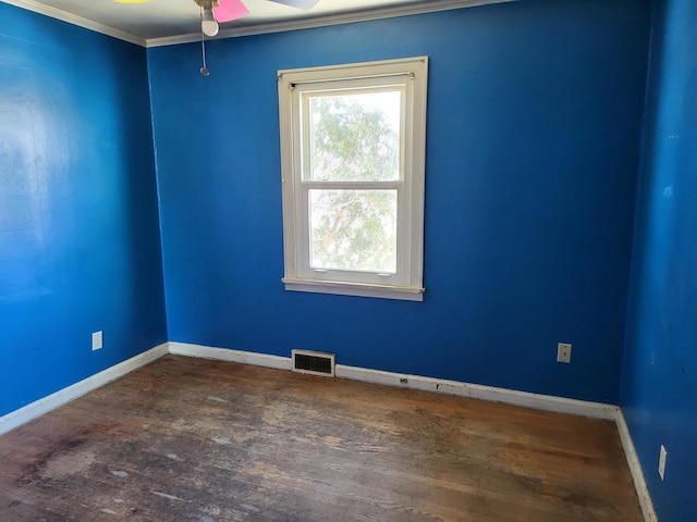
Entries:
{"type": "Polygon", "coordinates": [[[288,290],[423,300],[427,70],[279,72],[288,290]]]}

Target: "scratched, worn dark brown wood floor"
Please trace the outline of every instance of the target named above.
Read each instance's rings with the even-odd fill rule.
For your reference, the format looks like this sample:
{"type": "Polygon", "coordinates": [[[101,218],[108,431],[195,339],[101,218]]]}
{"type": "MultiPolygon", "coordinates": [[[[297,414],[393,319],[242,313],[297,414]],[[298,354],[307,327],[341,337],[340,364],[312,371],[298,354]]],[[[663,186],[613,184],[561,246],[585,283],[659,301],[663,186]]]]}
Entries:
{"type": "Polygon", "coordinates": [[[0,521],[640,521],[610,422],[167,356],[0,437],[0,521]]]}

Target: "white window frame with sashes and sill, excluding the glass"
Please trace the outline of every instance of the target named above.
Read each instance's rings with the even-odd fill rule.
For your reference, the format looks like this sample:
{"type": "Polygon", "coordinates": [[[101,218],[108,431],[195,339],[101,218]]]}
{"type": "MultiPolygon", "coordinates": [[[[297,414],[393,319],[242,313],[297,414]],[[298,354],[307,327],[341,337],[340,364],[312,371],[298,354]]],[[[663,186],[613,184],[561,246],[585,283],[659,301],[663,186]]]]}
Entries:
{"type": "Polygon", "coordinates": [[[279,71],[283,252],[286,290],[421,301],[424,299],[424,175],[428,58],[279,71]],[[402,108],[400,179],[395,182],[318,182],[303,179],[303,115],[313,94],[351,88],[399,86],[402,108]],[[398,190],[398,268],[395,274],[313,270],[309,265],[310,188],[393,188],[398,190]]]}

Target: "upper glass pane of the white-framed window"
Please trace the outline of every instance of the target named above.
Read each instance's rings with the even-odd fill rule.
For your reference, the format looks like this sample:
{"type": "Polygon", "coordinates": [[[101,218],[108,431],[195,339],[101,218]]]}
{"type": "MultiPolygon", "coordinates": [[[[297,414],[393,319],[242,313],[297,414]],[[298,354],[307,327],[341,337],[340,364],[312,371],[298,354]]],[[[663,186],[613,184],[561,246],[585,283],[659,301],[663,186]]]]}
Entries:
{"type": "Polygon", "coordinates": [[[309,98],[309,178],[399,179],[401,108],[401,90],[309,98]]]}

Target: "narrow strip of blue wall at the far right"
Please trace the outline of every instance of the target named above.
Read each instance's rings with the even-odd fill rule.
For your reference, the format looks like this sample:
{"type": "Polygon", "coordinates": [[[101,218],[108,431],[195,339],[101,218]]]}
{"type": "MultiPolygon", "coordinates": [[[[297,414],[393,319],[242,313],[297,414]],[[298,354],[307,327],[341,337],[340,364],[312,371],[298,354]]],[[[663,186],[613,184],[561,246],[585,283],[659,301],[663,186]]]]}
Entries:
{"type": "Polygon", "coordinates": [[[697,520],[697,3],[660,2],[621,406],[661,521],[697,520]],[[659,447],[668,449],[665,481],[659,447]]]}

